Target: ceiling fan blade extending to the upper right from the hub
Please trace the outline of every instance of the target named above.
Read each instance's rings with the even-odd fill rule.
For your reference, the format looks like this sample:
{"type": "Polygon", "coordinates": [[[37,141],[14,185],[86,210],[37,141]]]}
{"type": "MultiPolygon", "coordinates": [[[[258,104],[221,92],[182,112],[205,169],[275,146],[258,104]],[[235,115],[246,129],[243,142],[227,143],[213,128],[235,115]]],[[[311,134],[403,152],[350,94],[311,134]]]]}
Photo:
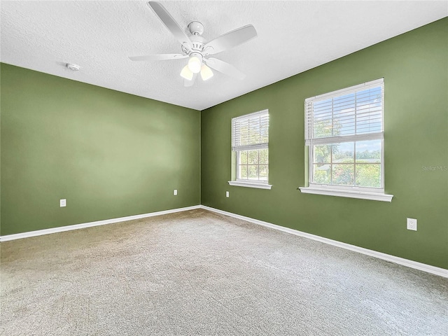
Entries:
{"type": "Polygon", "coordinates": [[[250,41],[255,37],[257,37],[255,27],[253,27],[253,25],[246,25],[211,40],[209,43],[204,45],[204,54],[214,55],[226,49],[236,47],[241,43],[250,41]]]}

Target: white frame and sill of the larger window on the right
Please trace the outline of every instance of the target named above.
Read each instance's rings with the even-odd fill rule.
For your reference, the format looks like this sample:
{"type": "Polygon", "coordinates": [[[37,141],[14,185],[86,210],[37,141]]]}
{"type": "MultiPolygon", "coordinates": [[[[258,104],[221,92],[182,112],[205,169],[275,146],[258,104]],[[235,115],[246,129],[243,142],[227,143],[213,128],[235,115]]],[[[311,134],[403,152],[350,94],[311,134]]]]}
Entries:
{"type": "MultiPolygon", "coordinates": [[[[325,94],[320,94],[316,97],[309,97],[304,101],[304,109],[305,109],[305,144],[307,147],[307,155],[308,155],[308,167],[306,168],[306,183],[307,186],[300,187],[300,191],[302,193],[310,193],[316,195],[330,195],[330,196],[339,196],[339,197],[351,197],[351,198],[360,198],[365,200],[377,200],[384,202],[391,202],[393,195],[387,195],[384,193],[384,78],[379,78],[377,80],[372,80],[370,82],[366,82],[360,85],[353,85],[351,87],[346,87],[342,90],[336,90],[332,92],[328,92],[325,94]],[[314,137],[312,134],[312,126],[314,126],[312,121],[312,111],[309,111],[310,105],[312,106],[313,102],[322,101],[324,99],[330,99],[335,97],[341,97],[346,94],[360,92],[366,90],[369,87],[379,87],[381,86],[381,130],[379,132],[374,133],[365,133],[365,134],[351,134],[351,135],[337,135],[331,137],[314,137]],[[310,118],[311,115],[311,118],[310,118]],[[311,120],[310,120],[311,119],[311,120]],[[311,132],[311,134],[309,134],[311,132]],[[332,144],[344,144],[348,142],[353,142],[353,169],[355,169],[356,174],[356,142],[359,141],[369,141],[369,140],[381,140],[381,162],[380,165],[380,187],[363,187],[363,186],[341,186],[341,185],[333,185],[333,184],[325,184],[325,183],[315,183],[314,179],[314,148],[317,145],[332,145],[332,144]]],[[[312,108],[311,108],[312,109],[312,108]]],[[[331,162],[332,168],[332,162],[331,162]]]]}

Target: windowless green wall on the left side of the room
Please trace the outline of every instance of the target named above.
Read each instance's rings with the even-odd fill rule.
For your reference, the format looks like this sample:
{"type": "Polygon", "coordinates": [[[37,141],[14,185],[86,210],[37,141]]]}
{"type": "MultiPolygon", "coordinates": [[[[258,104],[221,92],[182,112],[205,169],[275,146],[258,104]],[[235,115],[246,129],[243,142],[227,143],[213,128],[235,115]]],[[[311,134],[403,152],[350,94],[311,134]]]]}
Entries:
{"type": "Polygon", "coordinates": [[[1,235],[197,204],[200,111],[1,64],[1,235]]]}

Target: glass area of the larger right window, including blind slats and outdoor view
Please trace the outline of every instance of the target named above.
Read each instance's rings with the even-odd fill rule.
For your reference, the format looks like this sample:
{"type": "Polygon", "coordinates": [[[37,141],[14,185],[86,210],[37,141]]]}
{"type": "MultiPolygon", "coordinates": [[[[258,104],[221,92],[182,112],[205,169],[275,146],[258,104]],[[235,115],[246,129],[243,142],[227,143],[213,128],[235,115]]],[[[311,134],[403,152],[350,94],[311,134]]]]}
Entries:
{"type": "Polygon", "coordinates": [[[382,100],[380,85],[312,103],[313,183],[381,187],[382,100]]]}

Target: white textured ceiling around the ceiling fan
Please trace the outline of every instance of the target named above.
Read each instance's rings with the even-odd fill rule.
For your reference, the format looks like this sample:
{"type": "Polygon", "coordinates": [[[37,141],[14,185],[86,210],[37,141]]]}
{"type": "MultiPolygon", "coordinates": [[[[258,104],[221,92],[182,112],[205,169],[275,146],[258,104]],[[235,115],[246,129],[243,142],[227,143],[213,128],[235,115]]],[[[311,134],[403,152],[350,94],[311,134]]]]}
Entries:
{"type": "Polygon", "coordinates": [[[216,55],[246,78],[183,87],[186,59],[130,61],[181,52],[146,1],[2,0],[1,62],[203,110],[448,15],[448,1],[160,2],[186,31],[202,22],[206,41],[254,25],[257,38],[216,55]]]}

